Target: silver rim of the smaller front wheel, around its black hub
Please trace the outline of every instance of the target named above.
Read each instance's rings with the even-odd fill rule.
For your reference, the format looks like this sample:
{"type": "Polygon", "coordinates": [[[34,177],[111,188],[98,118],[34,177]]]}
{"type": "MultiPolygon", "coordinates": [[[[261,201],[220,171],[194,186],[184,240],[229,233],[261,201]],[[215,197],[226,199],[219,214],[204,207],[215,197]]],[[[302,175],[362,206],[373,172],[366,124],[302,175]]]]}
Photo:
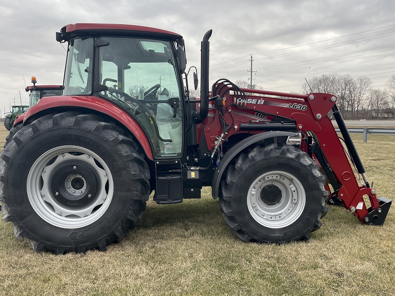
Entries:
{"type": "Polygon", "coordinates": [[[306,204],[303,185],[295,176],[283,171],[265,173],[252,183],[248,189],[247,206],[254,220],[270,228],[282,228],[291,225],[302,215],[306,204]],[[261,196],[268,186],[275,186],[281,196],[275,204],[261,196]],[[265,201],[266,202],[265,202],[265,201]]]}

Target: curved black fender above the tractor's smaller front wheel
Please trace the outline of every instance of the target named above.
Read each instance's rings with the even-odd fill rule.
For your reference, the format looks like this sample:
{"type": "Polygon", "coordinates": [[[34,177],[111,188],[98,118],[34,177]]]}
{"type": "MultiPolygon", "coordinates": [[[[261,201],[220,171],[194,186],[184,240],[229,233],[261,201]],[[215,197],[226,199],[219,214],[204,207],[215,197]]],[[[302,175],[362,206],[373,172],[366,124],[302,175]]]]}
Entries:
{"type": "Polygon", "coordinates": [[[234,159],[241,150],[257,143],[258,141],[281,136],[295,136],[294,132],[265,132],[256,134],[238,142],[234,147],[230,148],[222,158],[220,165],[215,169],[213,182],[211,185],[211,195],[214,199],[218,198],[219,184],[225,169],[228,167],[232,159],[234,159]]]}

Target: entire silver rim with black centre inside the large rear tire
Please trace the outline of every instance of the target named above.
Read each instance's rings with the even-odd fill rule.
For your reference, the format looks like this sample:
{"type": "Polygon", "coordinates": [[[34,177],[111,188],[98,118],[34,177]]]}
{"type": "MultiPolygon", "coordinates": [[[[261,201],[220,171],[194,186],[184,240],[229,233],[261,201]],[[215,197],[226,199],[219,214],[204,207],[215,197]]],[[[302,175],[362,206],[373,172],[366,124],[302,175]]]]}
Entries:
{"type": "Polygon", "coordinates": [[[36,160],[28,175],[27,192],[43,220],[62,228],[79,228],[104,214],[114,183],[109,167],[97,154],[62,146],[36,160]]]}

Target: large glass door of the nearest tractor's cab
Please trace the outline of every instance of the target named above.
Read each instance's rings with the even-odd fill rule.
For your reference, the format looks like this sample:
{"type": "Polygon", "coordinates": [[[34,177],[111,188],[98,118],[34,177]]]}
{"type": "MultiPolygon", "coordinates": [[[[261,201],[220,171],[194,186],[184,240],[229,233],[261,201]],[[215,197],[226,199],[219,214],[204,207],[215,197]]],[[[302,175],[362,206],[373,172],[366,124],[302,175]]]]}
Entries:
{"type": "Polygon", "coordinates": [[[179,156],[182,109],[168,104],[169,99],[180,98],[170,42],[127,37],[101,39],[109,42],[100,47],[99,83],[108,87],[101,95],[122,102],[137,117],[157,156],[179,156]]]}

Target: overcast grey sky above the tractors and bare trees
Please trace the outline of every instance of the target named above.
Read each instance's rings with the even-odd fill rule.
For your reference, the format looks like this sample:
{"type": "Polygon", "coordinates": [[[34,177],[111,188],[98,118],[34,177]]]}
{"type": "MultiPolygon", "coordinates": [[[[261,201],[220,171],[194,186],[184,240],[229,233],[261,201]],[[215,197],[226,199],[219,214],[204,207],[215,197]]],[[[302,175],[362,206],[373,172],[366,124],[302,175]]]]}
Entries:
{"type": "Polygon", "coordinates": [[[28,103],[23,75],[27,85],[31,76],[63,83],[66,51],[55,32],[71,23],[176,32],[197,68],[200,40],[213,29],[210,84],[249,81],[251,54],[254,83],[272,91],[301,92],[305,77],[325,73],[367,75],[384,89],[395,73],[394,0],[0,0],[2,111],[20,102],[19,91],[28,103]]]}

